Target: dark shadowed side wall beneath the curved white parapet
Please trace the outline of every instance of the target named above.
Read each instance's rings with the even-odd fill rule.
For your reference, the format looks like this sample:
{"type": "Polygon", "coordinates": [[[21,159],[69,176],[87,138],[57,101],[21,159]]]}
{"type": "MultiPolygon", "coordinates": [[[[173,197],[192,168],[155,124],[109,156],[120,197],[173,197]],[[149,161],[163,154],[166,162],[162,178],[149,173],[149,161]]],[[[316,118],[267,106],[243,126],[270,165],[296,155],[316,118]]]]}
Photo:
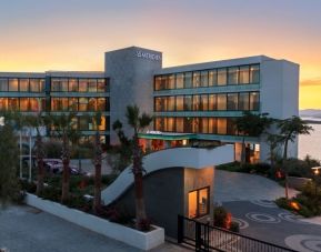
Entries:
{"type": "MultiPolygon", "coordinates": [[[[147,215],[165,230],[165,235],[177,236],[178,214],[184,214],[183,169],[169,168],[143,179],[147,215]]],[[[118,208],[134,214],[133,185],[117,201],[118,208]]]]}

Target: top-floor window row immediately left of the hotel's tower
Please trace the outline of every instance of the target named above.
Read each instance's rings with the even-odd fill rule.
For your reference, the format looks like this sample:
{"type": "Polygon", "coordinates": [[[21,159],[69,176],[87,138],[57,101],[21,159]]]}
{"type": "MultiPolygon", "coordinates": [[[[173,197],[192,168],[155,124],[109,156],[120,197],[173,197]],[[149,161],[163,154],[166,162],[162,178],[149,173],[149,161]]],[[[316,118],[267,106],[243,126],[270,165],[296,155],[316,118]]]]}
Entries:
{"type": "Polygon", "coordinates": [[[108,79],[51,78],[52,92],[109,92],[108,79]]]}

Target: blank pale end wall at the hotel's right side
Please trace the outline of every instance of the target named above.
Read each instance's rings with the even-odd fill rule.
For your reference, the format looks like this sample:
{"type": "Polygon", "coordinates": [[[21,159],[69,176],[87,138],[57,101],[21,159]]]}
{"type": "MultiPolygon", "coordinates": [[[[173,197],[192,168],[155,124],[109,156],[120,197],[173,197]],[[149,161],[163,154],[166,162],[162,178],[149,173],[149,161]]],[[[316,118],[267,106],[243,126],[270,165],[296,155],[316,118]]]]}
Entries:
{"type": "MultiPolygon", "coordinates": [[[[267,60],[261,63],[261,112],[287,119],[299,115],[299,64],[285,60],[267,60]]],[[[261,139],[260,159],[267,161],[269,147],[261,139]]],[[[298,157],[298,141],[289,144],[288,157],[298,157]]]]}

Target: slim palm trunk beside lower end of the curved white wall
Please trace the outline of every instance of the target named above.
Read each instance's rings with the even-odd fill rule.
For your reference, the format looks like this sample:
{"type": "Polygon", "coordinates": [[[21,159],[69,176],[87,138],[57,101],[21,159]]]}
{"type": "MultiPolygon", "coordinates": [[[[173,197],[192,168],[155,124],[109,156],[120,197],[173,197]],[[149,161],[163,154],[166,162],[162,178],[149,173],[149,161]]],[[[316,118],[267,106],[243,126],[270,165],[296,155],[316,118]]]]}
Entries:
{"type": "Polygon", "coordinates": [[[94,155],[93,155],[93,164],[94,164],[94,190],[93,190],[93,212],[97,214],[101,206],[101,160],[102,160],[102,150],[100,142],[100,133],[99,125],[101,124],[101,113],[94,114],[94,127],[96,127],[96,135],[94,135],[94,155]]]}

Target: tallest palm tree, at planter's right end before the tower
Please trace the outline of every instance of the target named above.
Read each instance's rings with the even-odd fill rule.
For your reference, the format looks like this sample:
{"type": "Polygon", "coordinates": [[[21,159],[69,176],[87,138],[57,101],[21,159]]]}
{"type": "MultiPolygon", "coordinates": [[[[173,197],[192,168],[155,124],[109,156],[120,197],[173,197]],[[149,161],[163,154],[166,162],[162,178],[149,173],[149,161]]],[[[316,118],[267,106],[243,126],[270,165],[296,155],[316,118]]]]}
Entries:
{"type": "Polygon", "coordinates": [[[138,133],[139,131],[147,128],[151,121],[152,117],[142,113],[140,115],[139,108],[137,105],[127,107],[127,121],[133,129],[133,144],[132,144],[132,173],[134,178],[134,201],[136,201],[136,226],[140,229],[142,221],[147,219],[146,205],[143,200],[143,168],[142,168],[142,151],[139,147],[138,133]]]}

